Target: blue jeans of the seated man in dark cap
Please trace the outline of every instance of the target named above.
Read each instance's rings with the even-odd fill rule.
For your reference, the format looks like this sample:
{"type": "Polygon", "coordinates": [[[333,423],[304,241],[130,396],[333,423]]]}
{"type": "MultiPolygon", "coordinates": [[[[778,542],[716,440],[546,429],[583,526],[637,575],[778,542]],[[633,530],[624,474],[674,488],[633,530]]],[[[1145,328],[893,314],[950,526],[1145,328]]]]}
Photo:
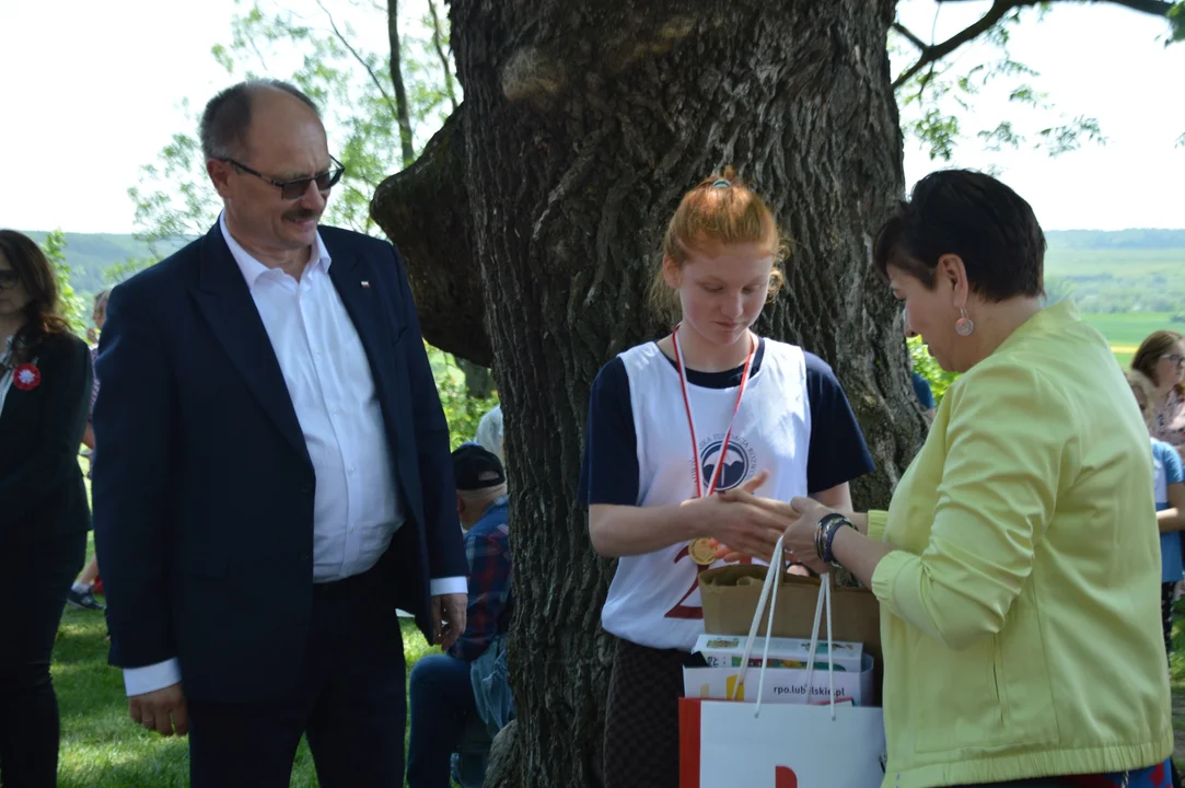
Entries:
{"type": "MultiPolygon", "coordinates": [[[[449,788],[449,761],[466,724],[476,717],[469,664],[448,654],[429,654],[411,668],[411,741],[408,786],[449,788]]],[[[480,784],[480,783],[479,783],[480,784]]]]}

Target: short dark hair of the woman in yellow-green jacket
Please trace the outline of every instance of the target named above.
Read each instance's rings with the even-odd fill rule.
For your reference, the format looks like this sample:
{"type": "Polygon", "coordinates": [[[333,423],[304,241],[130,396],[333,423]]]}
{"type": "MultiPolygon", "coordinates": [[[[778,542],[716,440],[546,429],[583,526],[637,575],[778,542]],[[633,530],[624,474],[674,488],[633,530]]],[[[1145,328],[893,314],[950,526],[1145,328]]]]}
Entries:
{"type": "Polygon", "coordinates": [[[892,265],[928,288],[943,255],[959,255],[972,290],[989,301],[1045,293],[1045,233],[1032,207],[981,172],[942,169],[917,181],[872,249],[882,275],[892,265]]]}

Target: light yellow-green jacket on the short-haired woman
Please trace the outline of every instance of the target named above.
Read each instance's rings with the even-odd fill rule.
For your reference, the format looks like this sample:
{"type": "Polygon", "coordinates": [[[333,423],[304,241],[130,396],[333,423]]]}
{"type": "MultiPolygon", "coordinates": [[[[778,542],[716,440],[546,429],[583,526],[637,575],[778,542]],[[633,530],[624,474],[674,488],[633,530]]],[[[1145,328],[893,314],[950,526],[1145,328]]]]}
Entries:
{"type": "Polygon", "coordinates": [[[1173,748],[1148,433],[1106,340],[1046,308],[947,391],[869,536],[889,765],[925,788],[1173,748]]]}

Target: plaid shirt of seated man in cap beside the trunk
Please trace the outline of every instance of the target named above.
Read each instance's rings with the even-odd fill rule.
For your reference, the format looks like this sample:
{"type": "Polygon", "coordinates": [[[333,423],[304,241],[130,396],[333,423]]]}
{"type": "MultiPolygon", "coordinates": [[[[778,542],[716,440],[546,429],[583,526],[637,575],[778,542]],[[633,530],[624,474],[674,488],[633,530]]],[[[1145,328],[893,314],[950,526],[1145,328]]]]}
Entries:
{"type": "Polygon", "coordinates": [[[494,499],[465,534],[469,559],[469,610],[465,634],[449,649],[467,662],[481,656],[511,623],[511,531],[506,523],[510,498],[494,499]]]}

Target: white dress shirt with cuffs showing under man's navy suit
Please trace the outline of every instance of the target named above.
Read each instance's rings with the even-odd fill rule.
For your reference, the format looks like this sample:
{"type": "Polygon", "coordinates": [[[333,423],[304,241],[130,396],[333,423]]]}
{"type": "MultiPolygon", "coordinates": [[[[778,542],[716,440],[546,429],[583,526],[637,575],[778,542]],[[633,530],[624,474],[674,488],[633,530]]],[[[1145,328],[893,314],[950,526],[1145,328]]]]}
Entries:
{"type": "MultiPolygon", "coordinates": [[[[297,281],[255,260],[225,217],[218,225],[271,340],[313,462],[313,582],[360,575],[386,552],[404,518],[370,361],[329,278],[329,252],[319,232],[297,281]]],[[[430,585],[434,596],[468,590],[465,577],[430,585]]],[[[169,660],[128,668],[123,678],[129,696],[141,694],[179,681],[180,667],[169,660]]]]}

